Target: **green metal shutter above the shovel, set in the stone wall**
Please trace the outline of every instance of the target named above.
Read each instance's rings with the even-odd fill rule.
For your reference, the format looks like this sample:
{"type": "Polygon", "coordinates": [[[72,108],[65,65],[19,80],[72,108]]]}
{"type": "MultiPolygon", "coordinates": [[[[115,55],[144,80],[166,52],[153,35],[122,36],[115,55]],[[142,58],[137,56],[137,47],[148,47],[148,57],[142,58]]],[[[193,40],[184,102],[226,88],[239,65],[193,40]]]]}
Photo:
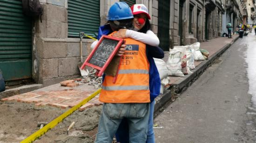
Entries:
{"type": "Polygon", "coordinates": [[[100,26],[100,0],[67,0],[68,37],[79,32],[96,37],[100,26]]]}

